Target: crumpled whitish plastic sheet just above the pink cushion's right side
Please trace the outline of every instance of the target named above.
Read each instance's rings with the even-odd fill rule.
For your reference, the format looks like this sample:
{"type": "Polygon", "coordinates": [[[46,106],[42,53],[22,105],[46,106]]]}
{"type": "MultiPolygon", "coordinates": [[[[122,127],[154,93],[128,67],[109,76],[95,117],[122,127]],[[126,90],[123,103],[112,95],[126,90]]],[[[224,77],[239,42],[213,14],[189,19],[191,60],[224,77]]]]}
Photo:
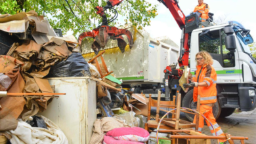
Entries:
{"type": "Polygon", "coordinates": [[[122,115],[115,115],[114,118],[119,120],[123,120],[126,124],[131,127],[138,127],[139,126],[139,118],[135,118],[135,113],[133,111],[129,111],[128,113],[123,113],[122,115]]]}

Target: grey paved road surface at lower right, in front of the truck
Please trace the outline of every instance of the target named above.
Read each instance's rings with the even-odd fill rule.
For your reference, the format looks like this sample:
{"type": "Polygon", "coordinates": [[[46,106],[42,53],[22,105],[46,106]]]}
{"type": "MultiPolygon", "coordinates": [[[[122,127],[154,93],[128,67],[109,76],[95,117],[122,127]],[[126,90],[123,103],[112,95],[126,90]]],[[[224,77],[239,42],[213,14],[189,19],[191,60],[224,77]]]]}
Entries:
{"type": "MultiPolygon", "coordinates": [[[[165,113],[160,113],[164,115],[165,113]]],[[[156,109],[152,109],[152,115],[156,115],[156,109]]],[[[188,120],[184,113],[181,113],[181,119],[188,120]]],[[[231,134],[233,136],[249,137],[249,140],[245,140],[245,144],[256,144],[256,109],[254,111],[233,113],[229,117],[219,118],[217,120],[219,126],[221,126],[224,133],[231,134]]],[[[208,126],[203,127],[203,134],[211,135],[208,126]]],[[[151,134],[156,136],[155,133],[151,134]]],[[[161,134],[161,137],[166,137],[165,134],[161,134]]],[[[212,143],[217,143],[215,140],[211,140],[212,143]]],[[[153,141],[150,143],[154,143],[153,141]]],[[[235,141],[235,144],[240,143],[235,141]]]]}

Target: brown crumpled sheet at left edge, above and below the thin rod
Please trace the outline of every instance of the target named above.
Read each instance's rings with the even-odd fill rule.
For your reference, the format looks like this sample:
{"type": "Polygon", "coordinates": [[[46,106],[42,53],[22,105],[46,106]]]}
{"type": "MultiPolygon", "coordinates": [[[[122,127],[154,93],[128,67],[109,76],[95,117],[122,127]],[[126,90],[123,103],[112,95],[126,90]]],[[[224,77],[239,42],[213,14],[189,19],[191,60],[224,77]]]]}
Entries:
{"type": "MultiPolygon", "coordinates": [[[[7,92],[22,92],[25,82],[20,75],[19,66],[22,62],[10,56],[0,56],[0,73],[5,73],[12,79],[12,85],[7,92]]],[[[26,101],[24,98],[0,98],[0,132],[14,130],[17,127],[17,118],[22,113],[26,101]]]]}

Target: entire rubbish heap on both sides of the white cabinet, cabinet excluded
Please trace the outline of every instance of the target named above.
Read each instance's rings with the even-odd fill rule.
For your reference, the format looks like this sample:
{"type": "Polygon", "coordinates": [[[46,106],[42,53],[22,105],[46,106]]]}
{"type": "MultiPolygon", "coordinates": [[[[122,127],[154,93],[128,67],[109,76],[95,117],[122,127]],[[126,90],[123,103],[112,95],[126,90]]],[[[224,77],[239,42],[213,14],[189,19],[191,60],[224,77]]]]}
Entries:
{"type": "MultiPolygon", "coordinates": [[[[0,142],[5,135],[11,143],[68,143],[56,124],[37,115],[45,111],[54,98],[54,86],[45,79],[48,77],[91,77],[97,82],[99,113],[95,128],[100,128],[98,124],[104,122],[116,124],[108,131],[123,127],[144,128],[141,114],[147,114],[147,99],[139,94],[131,96],[122,89],[122,82],[111,74],[113,71],[108,71],[103,53],[87,63],[74,36],[58,37],[47,19],[33,10],[0,15],[0,92],[3,93],[0,94],[0,142]],[[101,63],[96,60],[99,56],[101,63]],[[10,97],[10,93],[20,95],[10,97]],[[28,96],[28,93],[38,95],[28,96]],[[39,96],[39,93],[49,95],[39,96]]],[[[130,130],[128,135],[135,132],[133,129],[123,131],[127,130],[130,130]]],[[[141,142],[148,140],[147,131],[145,135],[141,142]]],[[[120,140],[115,140],[114,135],[105,138],[93,134],[91,143],[101,143],[102,139],[120,140]]]]}

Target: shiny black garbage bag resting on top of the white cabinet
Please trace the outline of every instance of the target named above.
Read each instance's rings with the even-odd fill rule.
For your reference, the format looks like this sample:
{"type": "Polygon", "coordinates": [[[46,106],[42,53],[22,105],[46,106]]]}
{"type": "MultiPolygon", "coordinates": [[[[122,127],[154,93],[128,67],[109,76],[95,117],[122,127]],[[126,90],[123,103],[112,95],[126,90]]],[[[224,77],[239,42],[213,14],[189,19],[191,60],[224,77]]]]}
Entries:
{"type": "Polygon", "coordinates": [[[82,54],[73,52],[66,61],[53,65],[48,77],[91,77],[91,73],[82,54]]]}

